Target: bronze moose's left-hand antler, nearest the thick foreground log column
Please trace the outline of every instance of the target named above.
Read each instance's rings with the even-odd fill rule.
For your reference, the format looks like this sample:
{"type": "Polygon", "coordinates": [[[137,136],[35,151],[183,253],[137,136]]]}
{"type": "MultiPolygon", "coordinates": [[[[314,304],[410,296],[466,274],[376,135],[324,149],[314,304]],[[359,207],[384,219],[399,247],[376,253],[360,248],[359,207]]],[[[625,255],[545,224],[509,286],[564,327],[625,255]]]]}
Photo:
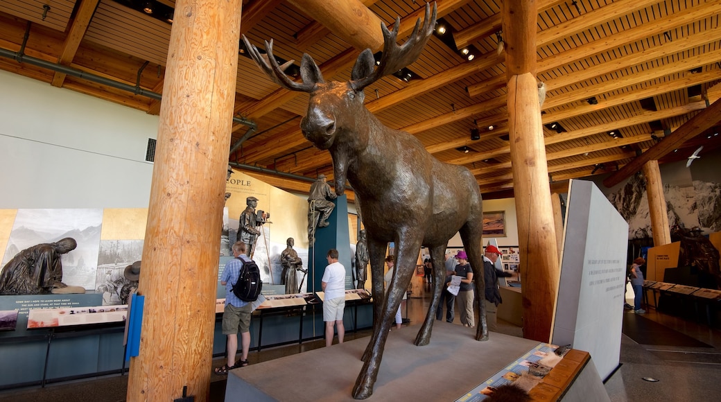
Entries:
{"type": "Polygon", "coordinates": [[[289,91],[312,92],[318,82],[323,82],[323,76],[320,75],[320,70],[311,56],[307,54],[303,55],[303,60],[301,61],[301,76],[303,77],[303,82],[301,84],[293,81],[291,77],[284,72],[288,66],[293,64],[293,60],[283,63],[283,66],[278,65],[278,61],[275,60],[275,56],[273,56],[272,39],[270,43],[268,43],[267,40],[265,41],[265,54],[261,54],[258,48],[252,45],[245,35],[243,35],[243,42],[253,61],[255,61],[260,69],[270,77],[275,84],[289,91]]]}

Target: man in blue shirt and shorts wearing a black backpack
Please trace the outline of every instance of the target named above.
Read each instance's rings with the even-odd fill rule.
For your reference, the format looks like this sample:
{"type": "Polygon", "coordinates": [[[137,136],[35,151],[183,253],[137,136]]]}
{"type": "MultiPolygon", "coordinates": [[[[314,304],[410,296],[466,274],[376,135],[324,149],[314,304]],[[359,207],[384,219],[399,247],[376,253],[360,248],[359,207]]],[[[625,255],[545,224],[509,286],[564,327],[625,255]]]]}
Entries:
{"type": "Polygon", "coordinates": [[[228,336],[228,362],[222,367],[216,368],[216,374],[228,374],[230,370],[248,365],[248,351],[250,349],[250,315],[252,303],[240,300],[233,292],[233,287],[238,283],[240,273],[245,262],[251,262],[245,255],[245,244],[236,241],[233,244],[233,256],[223,269],[221,285],[226,287],[226,306],[223,312],[223,334],[228,336]],[[238,332],[241,337],[242,355],[238,362],[235,361],[238,351],[238,332]]]}

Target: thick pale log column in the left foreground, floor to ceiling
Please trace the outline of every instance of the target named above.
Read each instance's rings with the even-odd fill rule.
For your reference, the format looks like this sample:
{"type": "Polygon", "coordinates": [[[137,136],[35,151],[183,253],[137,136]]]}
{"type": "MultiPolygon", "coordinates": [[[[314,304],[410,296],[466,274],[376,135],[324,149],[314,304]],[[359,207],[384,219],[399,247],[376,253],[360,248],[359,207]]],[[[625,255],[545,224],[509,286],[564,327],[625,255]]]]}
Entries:
{"type": "Polygon", "coordinates": [[[128,401],[207,401],[241,0],[178,0],[138,294],[128,401]]]}

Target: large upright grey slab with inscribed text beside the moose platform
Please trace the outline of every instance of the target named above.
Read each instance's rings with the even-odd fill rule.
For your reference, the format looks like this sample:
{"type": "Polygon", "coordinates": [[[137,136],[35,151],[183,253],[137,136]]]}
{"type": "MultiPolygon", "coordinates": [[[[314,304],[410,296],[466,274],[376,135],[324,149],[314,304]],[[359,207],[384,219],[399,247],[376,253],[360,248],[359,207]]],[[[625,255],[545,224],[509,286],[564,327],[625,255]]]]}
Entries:
{"type": "Polygon", "coordinates": [[[601,378],[619,365],[628,223],[592,182],[572,180],[552,342],[589,352],[601,378]]]}

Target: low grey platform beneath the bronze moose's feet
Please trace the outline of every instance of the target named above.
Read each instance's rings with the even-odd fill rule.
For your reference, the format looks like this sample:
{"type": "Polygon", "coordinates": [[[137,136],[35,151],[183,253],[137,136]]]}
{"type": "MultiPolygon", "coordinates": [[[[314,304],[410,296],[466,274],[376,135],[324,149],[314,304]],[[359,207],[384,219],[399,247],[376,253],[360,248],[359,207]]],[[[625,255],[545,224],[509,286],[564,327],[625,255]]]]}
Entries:
{"type": "MultiPolygon", "coordinates": [[[[473,338],[474,329],[436,321],[430,344],[416,347],[413,340],[419,328],[403,327],[389,335],[369,401],[456,401],[539,344],[496,333],[491,333],[490,340],[479,342],[473,338]]],[[[232,370],[225,400],[355,401],[353,385],[369,340],[356,339],[232,370]]],[[[588,366],[593,367],[593,363],[587,358],[578,372],[588,366]]],[[[567,386],[557,384],[564,389],[553,385],[556,396],[566,394],[565,388],[580,378],[578,373],[568,377],[571,381],[567,386]]],[[[597,372],[579,385],[589,401],[608,400],[597,372]],[[596,393],[599,398],[593,398],[596,393]]]]}

